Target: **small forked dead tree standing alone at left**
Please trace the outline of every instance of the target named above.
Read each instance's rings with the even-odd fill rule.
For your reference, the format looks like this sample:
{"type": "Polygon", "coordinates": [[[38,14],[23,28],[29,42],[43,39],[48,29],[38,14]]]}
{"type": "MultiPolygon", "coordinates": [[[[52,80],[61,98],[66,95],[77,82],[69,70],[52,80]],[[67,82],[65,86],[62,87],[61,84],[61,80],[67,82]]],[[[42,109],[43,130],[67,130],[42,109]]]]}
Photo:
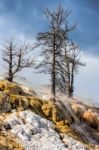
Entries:
{"type": "Polygon", "coordinates": [[[12,82],[17,73],[24,68],[34,66],[34,58],[31,58],[32,47],[29,44],[15,44],[14,40],[8,40],[3,44],[2,59],[7,66],[7,80],[12,82]]]}

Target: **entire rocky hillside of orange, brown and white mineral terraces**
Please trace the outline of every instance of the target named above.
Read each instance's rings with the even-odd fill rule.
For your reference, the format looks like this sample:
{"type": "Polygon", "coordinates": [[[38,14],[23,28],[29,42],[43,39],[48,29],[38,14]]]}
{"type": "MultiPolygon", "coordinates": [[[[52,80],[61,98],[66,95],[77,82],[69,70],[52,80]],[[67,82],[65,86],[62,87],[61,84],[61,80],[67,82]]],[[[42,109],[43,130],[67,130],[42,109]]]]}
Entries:
{"type": "Polygon", "coordinates": [[[0,150],[99,150],[99,109],[0,81],[0,150]]]}

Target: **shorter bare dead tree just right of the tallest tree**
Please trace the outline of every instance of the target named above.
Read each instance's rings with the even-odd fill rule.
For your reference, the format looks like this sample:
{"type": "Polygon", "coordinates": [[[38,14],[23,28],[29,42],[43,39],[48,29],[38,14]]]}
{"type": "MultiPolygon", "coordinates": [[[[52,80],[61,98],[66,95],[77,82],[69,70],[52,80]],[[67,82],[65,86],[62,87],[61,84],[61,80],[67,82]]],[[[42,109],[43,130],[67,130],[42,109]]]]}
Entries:
{"type": "Polygon", "coordinates": [[[80,61],[80,48],[73,42],[69,45],[68,52],[64,49],[64,54],[62,58],[62,75],[60,76],[62,93],[68,95],[68,97],[73,97],[74,92],[74,77],[79,66],[85,66],[84,63],[80,61]]]}

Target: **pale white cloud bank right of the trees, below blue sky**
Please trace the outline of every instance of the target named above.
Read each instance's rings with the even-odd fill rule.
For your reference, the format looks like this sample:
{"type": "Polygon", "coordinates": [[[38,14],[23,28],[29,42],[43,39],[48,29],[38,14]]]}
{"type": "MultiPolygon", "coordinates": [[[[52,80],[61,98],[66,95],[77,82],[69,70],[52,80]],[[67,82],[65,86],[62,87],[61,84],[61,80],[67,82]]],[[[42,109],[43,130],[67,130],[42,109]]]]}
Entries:
{"type": "Polygon", "coordinates": [[[99,58],[83,55],[85,67],[75,79],[75,94],[99,103],[99,58]]]}

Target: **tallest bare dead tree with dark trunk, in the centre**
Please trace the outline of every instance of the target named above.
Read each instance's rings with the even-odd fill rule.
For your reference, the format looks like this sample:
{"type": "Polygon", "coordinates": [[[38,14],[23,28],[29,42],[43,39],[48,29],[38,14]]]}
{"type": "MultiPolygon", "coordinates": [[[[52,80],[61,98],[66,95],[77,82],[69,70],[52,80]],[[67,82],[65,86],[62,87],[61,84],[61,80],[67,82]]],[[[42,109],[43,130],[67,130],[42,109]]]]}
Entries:
{"type": "Polygon", "coordinates": [[[49,22],[49,31],[38,33],[37,39],[43,48],[41,49],[42,61],[36,68],[38,72],[51,75],[51,92],[55,97],[58,87],[58,76],[61,73],[61,53],[64,47],[64,38],[67,38],[66,21],[70,12],[59,6],[55,11],[46,9],[45,15],[49,22]]]}

